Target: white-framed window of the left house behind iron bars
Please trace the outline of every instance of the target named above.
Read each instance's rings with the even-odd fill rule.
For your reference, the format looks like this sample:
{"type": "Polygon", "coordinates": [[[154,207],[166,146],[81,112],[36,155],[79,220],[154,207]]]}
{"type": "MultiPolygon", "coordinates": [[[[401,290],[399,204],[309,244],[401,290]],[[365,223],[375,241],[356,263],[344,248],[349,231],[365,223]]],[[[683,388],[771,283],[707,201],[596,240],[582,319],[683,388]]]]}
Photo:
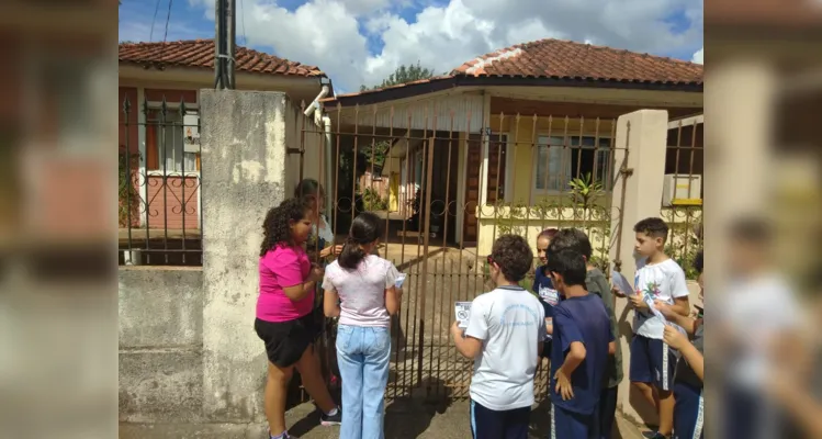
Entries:
{"type": "Polygon", "coordinates": [[[169,109],[165,119],[159,110],[149,110],[146,117],[146,167],[166,172],[200,170],[200,138],[196,135],[196,110],[185,115],[169,109]]]}

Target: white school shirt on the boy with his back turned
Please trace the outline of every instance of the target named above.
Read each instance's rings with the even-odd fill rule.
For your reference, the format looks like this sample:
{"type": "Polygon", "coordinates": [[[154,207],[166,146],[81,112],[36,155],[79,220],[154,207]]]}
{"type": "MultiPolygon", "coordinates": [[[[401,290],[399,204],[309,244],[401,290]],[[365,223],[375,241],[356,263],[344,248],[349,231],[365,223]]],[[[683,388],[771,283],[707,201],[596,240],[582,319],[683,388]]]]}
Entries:
{"type": "Polygon", "coordinates": [[[530,292],[499,286],[478,295],[471,304],[465,336],[483,341],[474,360],[471,399],[503,412],[533,404],[533,375],[545,338],[545,313],[530,292]]]}

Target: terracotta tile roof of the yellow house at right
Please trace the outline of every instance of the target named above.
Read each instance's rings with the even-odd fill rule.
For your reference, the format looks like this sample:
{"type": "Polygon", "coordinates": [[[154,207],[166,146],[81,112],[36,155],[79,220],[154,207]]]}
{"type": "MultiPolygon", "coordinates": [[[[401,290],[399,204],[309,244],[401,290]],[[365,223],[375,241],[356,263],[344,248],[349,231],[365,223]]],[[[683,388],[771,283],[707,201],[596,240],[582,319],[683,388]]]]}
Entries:
{"type": "Polygon", "coordinates": [[[702,83],[702,66],[560,40],[518,44],[474,58],[452,75],[644,83],[702,83]]]}

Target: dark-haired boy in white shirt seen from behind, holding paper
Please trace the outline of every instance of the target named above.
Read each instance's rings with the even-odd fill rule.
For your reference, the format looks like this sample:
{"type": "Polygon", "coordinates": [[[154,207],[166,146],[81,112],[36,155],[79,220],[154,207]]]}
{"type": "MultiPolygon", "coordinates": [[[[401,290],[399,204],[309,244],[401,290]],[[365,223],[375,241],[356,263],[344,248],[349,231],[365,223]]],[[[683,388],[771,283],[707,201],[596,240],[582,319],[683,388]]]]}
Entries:
{"type": "Polygon", "coordinates": [[[540,301],[519,286],[533,263],[521,236],[500,236],[488,256],[494,291],[471,304],[464,334],[451,326],[457,350],[474,360],[471,432],[474,439],[527,439],[533,375],[547,337],[540,301]]]}

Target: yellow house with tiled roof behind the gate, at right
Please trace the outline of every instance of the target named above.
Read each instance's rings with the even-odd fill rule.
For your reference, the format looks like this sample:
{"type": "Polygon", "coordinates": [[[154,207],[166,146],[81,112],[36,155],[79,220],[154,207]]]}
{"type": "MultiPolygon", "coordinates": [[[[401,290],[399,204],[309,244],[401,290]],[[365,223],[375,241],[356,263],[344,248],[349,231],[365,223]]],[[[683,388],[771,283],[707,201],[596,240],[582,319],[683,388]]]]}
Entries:
{"type": "MultiPolygon", "coordinates": [[[[617,117],[640,109],[666,110],[672,120],[701,114],[702,87],[701,65],[541,40],[470,59],[446,76],[320,102],[340,148],[391,139],[382,166],[390,204],[410,217],[417,192],[430,188],[430,232],[486,255],[513,205],[559,204],[517,219],[533,236],[562,219],[572,179],[590,175],[610,191],[617,117]]],[[[669,143],[690,142],[675,124],[669,133],[669,143]]],[[[666,172],[685,166],[669,161],[666,172]]],[[[701,170],[701,149],[697,161],[701,170]]]]}

